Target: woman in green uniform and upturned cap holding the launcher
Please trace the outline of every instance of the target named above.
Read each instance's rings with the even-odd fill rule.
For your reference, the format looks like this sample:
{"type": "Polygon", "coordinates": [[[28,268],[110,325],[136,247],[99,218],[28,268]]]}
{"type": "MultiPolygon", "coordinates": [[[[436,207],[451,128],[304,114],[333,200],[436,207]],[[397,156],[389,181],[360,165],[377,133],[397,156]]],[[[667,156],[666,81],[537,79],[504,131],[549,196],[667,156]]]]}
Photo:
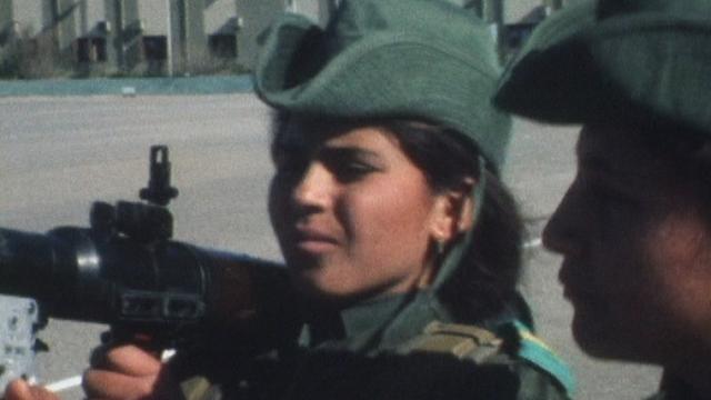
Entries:
{"type": "Polygon", "coordinates": [[[568,370],[515,289],[521,223],[498,179],[510,121],[490,106],[488,27],[444,1],[357,0],[326,30],[287,14],[262,44],[269,210],[301,334],[168,367],[117,347],[84,374],[88,397],[567,398],[568,370]]]}

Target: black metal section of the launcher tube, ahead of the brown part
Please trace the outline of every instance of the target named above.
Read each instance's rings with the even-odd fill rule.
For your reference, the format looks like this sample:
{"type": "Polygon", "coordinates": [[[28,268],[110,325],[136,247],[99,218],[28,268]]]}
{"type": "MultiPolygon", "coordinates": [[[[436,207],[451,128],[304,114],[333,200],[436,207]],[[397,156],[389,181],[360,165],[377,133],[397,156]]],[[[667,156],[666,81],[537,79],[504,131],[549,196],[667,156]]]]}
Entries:
{"type": "Polygon", "coordinates": [[[94,203],[91,228],[47,233],[0,228],[0,292],[33,298],[51,318],[157,327],[202,319],[207,253],[156,236],[166,229],[157,230],[158,219],[144,216],[163,209],[117,206],[123,217],[141,213],[150,221],[144,227],[107,222],[107,210],[112,206],[94,203]]]}

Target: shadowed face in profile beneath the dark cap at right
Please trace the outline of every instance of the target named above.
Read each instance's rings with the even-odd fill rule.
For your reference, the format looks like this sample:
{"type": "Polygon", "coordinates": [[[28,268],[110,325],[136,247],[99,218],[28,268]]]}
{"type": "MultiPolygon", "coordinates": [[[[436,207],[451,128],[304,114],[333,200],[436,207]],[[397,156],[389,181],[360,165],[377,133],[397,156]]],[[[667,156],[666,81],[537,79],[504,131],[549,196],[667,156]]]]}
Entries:
{"type": "Polygon", "coordinates": [[[577,177],[543,241],[563,256],[584,351],[668,364],[711,328],[711,240],[692,184],[644,133],[583,128],[577,177]]]}

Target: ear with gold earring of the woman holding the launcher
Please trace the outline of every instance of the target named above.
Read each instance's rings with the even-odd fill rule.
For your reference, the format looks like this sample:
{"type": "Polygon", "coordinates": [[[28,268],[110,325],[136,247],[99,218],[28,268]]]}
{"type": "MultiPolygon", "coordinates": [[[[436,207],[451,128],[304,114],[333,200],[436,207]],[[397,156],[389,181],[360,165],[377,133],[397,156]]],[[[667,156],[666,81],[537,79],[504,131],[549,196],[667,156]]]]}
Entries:
{"type": "Polygon", "coordinates": [[[432,237],[447,242],[474,226],[474,199],[477,181],[465,178],[454,189],[448,189],[434,199],[432,237]]]}

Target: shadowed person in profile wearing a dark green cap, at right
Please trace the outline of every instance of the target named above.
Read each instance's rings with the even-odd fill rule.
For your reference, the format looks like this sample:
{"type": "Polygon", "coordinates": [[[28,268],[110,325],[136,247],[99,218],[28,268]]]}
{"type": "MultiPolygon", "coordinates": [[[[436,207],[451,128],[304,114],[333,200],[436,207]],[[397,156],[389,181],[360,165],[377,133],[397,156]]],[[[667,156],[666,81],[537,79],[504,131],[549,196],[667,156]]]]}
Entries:
{"type": "Polygon", "coordinates": [[[711,398],[711,2],[600,0],[544,22],[497,102],[582,123],[544,231],[588,353],[664,368],[655,399],[711,398]]]}

